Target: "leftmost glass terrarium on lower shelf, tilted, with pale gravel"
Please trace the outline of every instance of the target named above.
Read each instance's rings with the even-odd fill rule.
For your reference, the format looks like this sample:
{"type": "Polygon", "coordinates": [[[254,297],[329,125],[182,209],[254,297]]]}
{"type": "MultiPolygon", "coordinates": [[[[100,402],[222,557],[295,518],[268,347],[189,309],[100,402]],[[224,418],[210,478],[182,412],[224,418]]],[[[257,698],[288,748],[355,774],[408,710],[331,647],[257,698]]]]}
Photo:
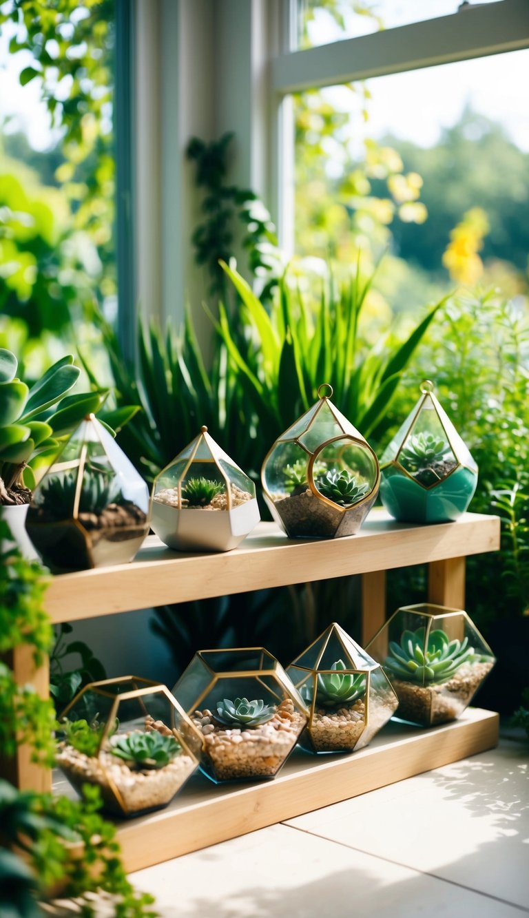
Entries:
{"type": "Polygon", "coordinates": [[[105,809],[162,809],[198,765],[202,737],[163,685],[135,676],[85,686],[62,711],[57,764],[76,790],[96,784],[105,809]]]}

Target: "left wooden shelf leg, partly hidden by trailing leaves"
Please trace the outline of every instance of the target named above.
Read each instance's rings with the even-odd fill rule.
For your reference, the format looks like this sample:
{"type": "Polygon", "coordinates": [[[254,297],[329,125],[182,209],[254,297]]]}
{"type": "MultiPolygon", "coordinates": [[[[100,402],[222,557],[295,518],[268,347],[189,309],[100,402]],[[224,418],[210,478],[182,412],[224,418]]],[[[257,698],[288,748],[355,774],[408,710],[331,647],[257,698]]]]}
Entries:
{"type": "MultiPolygon", "coordinates": [[[[41,698],[49,698],[50,661],[46,656],[40,666],[35,666],[33,651],[28,644],[21,644],[6,655],[6,663],[13,670],[17,685],[32,685],[41,698]]],[[[0,759],[0,776],[19,790],[51,791],[51,768],[32,762],[28,745],[19,745],[13,758],[0,759]]]]}

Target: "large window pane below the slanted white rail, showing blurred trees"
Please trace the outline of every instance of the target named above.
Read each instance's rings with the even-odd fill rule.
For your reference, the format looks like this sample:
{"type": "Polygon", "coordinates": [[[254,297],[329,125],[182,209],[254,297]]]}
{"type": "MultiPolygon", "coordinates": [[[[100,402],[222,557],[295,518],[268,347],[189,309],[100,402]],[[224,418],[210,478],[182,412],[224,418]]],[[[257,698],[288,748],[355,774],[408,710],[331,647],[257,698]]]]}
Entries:
{"type": "Polygon", "coordinates": [[[380,315],[454,282],[525,290],[527,72],[523,50],[296,96],[298,255],[388,249],[380,315]]]}

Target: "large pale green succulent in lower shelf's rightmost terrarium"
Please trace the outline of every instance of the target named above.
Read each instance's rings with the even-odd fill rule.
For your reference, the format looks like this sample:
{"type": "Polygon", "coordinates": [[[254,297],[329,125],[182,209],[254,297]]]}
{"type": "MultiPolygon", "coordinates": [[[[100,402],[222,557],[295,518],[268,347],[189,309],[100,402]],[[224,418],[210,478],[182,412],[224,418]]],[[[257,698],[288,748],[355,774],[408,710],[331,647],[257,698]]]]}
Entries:
{"type": "Polygon", "coordinates": [[[400,679],[418,682],[445,682],[464,663],[478,663],[481,656],[468,646],[468,638],[450,641],[441,629],[430,632],[425,649],[425,629],[404,631],[400,644],[389,642],[389,655],[384,666],[400,679]]]}

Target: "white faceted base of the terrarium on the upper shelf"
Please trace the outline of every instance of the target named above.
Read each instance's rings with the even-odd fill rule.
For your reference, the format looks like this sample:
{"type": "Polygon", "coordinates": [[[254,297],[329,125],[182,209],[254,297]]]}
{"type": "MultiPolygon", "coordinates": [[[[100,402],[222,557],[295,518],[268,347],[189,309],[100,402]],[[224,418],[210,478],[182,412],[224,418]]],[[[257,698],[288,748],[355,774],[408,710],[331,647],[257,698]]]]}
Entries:
{"type": "Polygon", "coordinates": [[[257,500],[231,510],[181,510],[152,501],[151,526],[168,548],[180,552],[229,552],[260,520],[257,500]]]}

